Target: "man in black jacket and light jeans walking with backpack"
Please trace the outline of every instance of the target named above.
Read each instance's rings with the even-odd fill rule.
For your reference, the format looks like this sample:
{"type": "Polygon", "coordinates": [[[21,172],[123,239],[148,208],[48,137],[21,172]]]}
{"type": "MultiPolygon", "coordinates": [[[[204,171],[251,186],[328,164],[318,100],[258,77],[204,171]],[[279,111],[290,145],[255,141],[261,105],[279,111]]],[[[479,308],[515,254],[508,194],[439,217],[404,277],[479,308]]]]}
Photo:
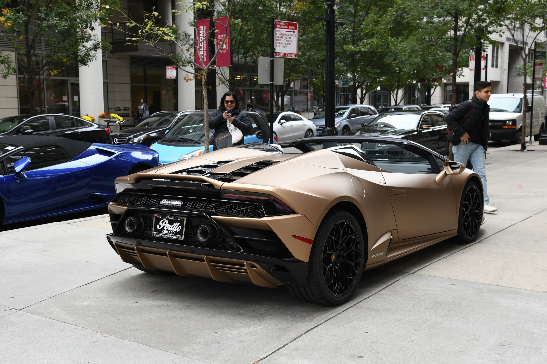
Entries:
{"type": "Polygon", "coordinates": [[[490,136],[490,107],[487,101],[492,93],[491,83],[479,81],[475,84],[475,95],[452,109],[446,116],[450,133],[448,140],[453,144],[454,161],[473,163],[473,169],[479,175],[484,189],[484,212],[493,213],[498,209],[488,205],[486,192],[485,150],[490,136]]]}

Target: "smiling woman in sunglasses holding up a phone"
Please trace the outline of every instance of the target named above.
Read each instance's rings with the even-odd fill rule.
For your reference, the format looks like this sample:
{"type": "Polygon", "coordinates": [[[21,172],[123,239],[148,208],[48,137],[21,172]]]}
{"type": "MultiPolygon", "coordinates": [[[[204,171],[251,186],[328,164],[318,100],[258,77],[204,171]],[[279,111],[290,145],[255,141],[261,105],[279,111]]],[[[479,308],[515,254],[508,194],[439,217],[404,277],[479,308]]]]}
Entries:
{"type": "MultiPolygon", "coordinates": [[[[243,114],[237,101],[237,95],[235,92],[228,91],[220,99],[220,105],[217,110],[214,110],[209,115],[209,127],[214,129],[215,140],[220,134],[228,131],[228,124],[237,127],[245,136],[252,129],[251,121],[247,115],[243,114]]],[[[243,138],[236,145],[243,144],[243,138]]],[[[217,143],[214,143],[213,150],[217,150],[217,143]]]]}

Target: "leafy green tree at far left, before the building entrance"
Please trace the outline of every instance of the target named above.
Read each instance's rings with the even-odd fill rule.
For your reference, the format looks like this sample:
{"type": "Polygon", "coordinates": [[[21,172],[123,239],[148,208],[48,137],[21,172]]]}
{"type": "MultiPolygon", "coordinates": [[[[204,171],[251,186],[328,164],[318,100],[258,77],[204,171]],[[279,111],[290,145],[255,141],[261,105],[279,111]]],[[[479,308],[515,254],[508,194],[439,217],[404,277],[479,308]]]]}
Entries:
{"type": "MultiPolygon", "coordinates": [[[[97,0],[0,0],[0,7],[0,37],[13,47],[31,112],[46,79],[109,49],[93,32],[110,13],[97,0]]],[[[0,71],[4,79],[15,73],[13,59],[1,52],[0,71]]]]}

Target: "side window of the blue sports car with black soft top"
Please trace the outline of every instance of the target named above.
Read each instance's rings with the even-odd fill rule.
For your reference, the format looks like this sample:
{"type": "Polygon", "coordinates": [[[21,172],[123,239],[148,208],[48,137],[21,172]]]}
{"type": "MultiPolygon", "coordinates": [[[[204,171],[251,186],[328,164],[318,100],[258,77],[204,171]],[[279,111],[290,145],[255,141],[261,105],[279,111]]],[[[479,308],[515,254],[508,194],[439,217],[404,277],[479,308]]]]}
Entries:
{"type": "Polygon", "coordinates": [[[60,146],[38,146],[37,148],[21,150],[14,155],[5,158],[5,162],[8,167],[8,174],[15,173],[15,168],[13,166],[15,162],[20,160],[22,157],[31,158],[31,163],[25,171],[55,166],[70,160],[66,151],[60,146]]]}

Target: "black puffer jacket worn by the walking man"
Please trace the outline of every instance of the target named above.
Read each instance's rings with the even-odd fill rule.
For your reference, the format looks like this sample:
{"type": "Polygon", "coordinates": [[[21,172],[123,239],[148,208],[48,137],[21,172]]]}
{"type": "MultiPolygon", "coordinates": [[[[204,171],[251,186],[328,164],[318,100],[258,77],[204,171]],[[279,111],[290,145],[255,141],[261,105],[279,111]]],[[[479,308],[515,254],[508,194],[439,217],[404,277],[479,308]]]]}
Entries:
{"type": "Polygon", "coordinates": [[[458,139],[463,136],[473,128],[475,122],[480,122],[479,117],[484,116],[485,122],[484,126],[481,128],[480,136],[482,140],[482,146],[484,150],[488,148],[488,139],[490,138],[490,106],[484,102],[480,101],[475,95],[471,98],[473,101],[473,110],[463,122],[460,124],[462,119],[465,117],[465,114],[468,113],[470,102],[464,101],[458,105],[457,108],[453,109],[448,116],[446,116],[446,124],[452,128],[452,133],[458,136],[458,139]]]}

